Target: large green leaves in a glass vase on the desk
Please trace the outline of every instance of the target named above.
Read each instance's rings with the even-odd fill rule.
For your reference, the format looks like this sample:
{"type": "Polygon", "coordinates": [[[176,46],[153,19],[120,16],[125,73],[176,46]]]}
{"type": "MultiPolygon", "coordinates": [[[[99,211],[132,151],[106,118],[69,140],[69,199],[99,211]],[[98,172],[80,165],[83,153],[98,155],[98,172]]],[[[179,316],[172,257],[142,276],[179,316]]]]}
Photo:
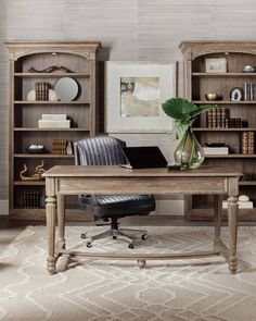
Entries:
{"type": "Polygon", "coordinates": [[[204,150],[192,131],[192,124],[203,112],[216,104],[195,106],[184,98],[171,98],[162,103],[164,112],[172,118],[174,127],[170,132],[172,140],[180,140],[174,157],[181,169],[197,169],[204,161],[204,150]]]}

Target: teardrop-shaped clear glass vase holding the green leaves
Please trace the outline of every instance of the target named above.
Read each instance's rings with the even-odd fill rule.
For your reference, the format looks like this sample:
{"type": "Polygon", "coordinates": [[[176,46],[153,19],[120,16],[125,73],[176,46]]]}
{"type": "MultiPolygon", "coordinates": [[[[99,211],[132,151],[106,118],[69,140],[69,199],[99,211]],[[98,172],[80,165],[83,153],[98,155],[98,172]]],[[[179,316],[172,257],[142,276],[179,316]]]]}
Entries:
{"type": "Polygon", "coordinates": [[[189,127],[175,150],[175,161],[181,169],[199,169],[204,161],[204,150],[189,127]]]}

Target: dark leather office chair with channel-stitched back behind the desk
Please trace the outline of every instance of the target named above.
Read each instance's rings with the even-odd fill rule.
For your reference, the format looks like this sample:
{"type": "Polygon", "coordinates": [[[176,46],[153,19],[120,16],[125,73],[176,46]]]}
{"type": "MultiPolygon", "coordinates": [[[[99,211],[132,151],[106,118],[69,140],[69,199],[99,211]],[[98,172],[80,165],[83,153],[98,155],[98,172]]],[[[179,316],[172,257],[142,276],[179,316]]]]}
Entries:
{"type": "MultiPolygon", "coordinates": [[[[77,165],[119,165],[126,164],[127,159],[123,147],[126,144],[110,136],[97,136],[86,138],[74,144],[75,163],[77,165]]],[[[129,243],[128,247],[133,248],[135,238],[126,233],[137,232],[145,239],[148,232],[142,230],[118,229],[118,219],[129,215],[146,215],[155,210],[155,198],[151,195],[80,195],[80,208],[87,213],[94,214],[104,220],[111,220],[111,229],[106,232],[92,236],[87,242],[91,247],[93,240],[113,237],[120,237],[129,243]]],[[[86,238],[86,233],[81,233],[86,238]]]]}

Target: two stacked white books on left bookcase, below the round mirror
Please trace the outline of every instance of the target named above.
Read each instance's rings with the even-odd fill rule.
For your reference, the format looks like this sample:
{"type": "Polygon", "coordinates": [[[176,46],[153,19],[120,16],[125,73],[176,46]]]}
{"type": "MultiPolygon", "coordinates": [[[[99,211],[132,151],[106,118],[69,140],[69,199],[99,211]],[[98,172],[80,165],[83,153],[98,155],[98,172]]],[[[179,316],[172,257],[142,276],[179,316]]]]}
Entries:
{"type": "Polygon", "coordinates": [[[66,119],[66,114],[42,114],[38,126],[39,128],[71,128],[71,121],[66,119]]]}

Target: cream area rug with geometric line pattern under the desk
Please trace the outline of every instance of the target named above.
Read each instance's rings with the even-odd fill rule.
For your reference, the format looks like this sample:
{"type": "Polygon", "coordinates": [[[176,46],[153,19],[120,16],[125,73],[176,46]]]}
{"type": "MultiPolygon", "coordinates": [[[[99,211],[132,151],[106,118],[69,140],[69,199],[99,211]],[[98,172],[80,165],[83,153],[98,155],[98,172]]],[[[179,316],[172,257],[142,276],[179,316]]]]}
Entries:
{"type": "MultiPolygon", "coordinates": [[[[104,227],[105,229],[105,227],[104,227]]],[[[89,227],[89,234],[104,230],[89,227]]],[[[145,227],[135,249],[100,240],[86,249],[84,227],[67,227],[67,246],[99,251],[207,250],[212,227],[145,227]]],[[[227,239],[228,231],[222,230],[227,239]]],[[[46,270],[46,227],[28,226],[0,254],[0,320],[4,321],[253,321],[256,320],[256,227],[239,229],[239,272],[220,257],[148,261],[74,258],[46,270]]]]}

